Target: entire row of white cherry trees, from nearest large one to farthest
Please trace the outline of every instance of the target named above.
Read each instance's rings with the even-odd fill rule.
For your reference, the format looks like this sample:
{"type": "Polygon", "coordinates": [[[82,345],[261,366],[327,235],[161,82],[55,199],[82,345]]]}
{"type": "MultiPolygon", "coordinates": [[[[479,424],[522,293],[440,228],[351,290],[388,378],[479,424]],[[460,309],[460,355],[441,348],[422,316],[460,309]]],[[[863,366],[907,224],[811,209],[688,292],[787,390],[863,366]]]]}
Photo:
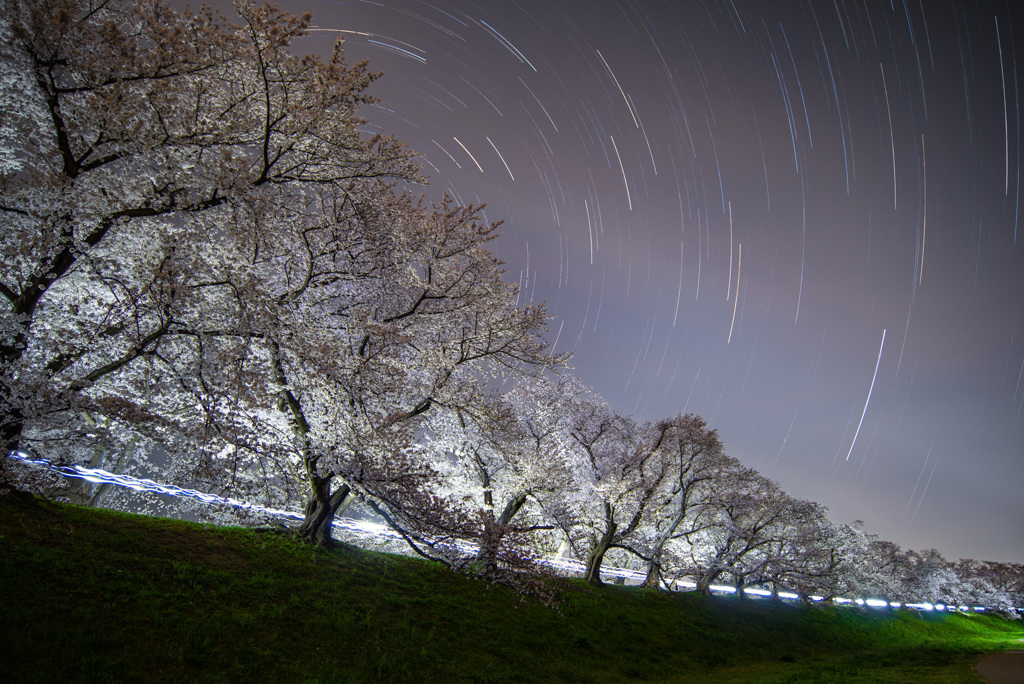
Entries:
{"type": "MultiPolygon", "coordinates": [[[[5,452],[301,504],[319,545],[354,504],[502,581],[570,555],[595,584],[614,558],[649,587],[1021,602],[1019,566],[837,525],[699,417],[637,422],[552,375],[497,226],[412,196],[412,153],[365,133],[376,75],[341,43],[293,55],[308,16],[236,9],[3,0],[5,452]]],[[[53,484],[13,463],[0,486],[53,484]]]]}

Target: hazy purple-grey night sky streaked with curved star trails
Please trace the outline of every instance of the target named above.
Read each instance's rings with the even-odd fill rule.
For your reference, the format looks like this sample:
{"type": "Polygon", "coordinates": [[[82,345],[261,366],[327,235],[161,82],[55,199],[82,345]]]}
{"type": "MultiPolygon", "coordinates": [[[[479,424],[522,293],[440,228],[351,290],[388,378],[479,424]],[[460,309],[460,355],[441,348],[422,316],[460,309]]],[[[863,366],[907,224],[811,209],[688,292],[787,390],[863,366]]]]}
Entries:
{"type": "Polygon", "coordinates": [[[486,203],[573,372],[838,521],[1024,561],[1024,11],[285,1],[486,203]],[[1018,54],[1020,51],[1021,54],[1018,54]]]}

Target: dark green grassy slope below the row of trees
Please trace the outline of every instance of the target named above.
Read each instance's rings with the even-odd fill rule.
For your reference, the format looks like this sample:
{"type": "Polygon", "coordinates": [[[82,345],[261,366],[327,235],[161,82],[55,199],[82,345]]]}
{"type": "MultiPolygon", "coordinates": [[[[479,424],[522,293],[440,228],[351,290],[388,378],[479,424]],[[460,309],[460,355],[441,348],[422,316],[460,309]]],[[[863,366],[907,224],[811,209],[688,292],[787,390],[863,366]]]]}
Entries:
{"type": "Polygon", "coordinates": [[[0,681],[973,682],[993,616],[566,582],[560,610],[400,556],[0,497],[0,681]]]}

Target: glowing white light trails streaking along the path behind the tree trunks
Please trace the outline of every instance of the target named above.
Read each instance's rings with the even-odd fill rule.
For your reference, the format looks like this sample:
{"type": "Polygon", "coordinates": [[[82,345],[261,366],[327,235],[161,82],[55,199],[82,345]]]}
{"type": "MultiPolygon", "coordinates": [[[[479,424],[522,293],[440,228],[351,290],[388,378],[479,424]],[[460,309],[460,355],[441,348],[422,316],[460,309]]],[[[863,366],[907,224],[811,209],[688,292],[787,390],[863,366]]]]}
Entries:
{"type": "MultiPolygon", "coordinates": [[[[233,506],[236,508],[242,508],[254,513],[262,513],[268,517],[275,518],[279,520],[293,520],[301,521],[303,519],[302,513],[298,511],[289,511],[279,508],[268,508],[266,506],[259,506],[258,504],[251,504],[249,502],[240,501],[238,499],[216,497],[211,494],[206,494],[204,491],[197,491],[196,489],[186,489],[184,487],[175,486],[173,484],[162,484],[160,482],[155,482],[151,479],[132,477],[130,475],[119,475],[117,473],[112,473],[106,470],[101,470],[99,468],[86,468],[85,466],[71,465],[71,466],[58,466],[46,461],[45,459],[33,459],[32,457],[15,453],[11,454],[10,458],[17,459],[25,463],[38,466],[41,468],[49,468],[50,470],[56,471],[63,475],[65,477],[74,477],[78,479],[84,479],[89,482],[95,483],[110,483],[116,484],[121,487],[128,489],[134,489],[135,491],[148,491],[151,494],[162,494],[170,497],[177,497],[182,499],[194,499],[196,501],[203,502],[204,504],[210,506],[233,506]]],[[[370,520],[358,520],[356,518],[336,518],[334,521],[334,528],[349,533],[354,533],[356,536],[362,537],[375,537],[378,539],[390,539],[390,540],[401,540],[401,536],[395,530],[391,529],[387,525],[382,525],[377,522],[372,522],[370,520]]],[[[460,550],[465,553],[475,553],[476,547],[469,544],[461,544],[460,550]]],[[[586,570],[586,566],[578,560],[572,560],[570,558],[542,558],[539,559],[541,563],[548,565],[550,567],[557,568],[567,573],[572,574],[583,574],[586,570]]],[[[637,570],[631,570],[625,567],[602,567],[602,576],[610,576],[622,579],[623,581],[632,580],[634,582],[642,582],[645,579],[643,572],[638,572],[637,570]]],[[[675,582],[673,583],[673,588],[681,589],[694,589],[696,585],[692,582],[675,582]]],[[[726,585],[712,585],[711,589],[715,592],[722,594],[735,594],[735,587],[729,587],[726,585]]],[[[743,593],[748,596],[760,596],[768,597],[771,596],[771,592],[766,589],[745,589],[743,593]]],[[[798,600],[800,596],[792,592],[779,592],[778,597],[788,600],[798,600]]],[[[811,600],[821,601],[822,597],[812,596],[811,600]]],[[[879,599],[849,599],[849,598],[836,598],[834,601],[838,604],[855,604],[860,606],[868,606],[871,608],[882,608],[882,607],[894,607],[899,608],[902,604],[893,602],[887,603],[879,599]]],[[[932,603],[907,603],[908,608],[918,608],[920,610],[956,610],[957,606],[944,606],[941,604],[932,603]]],[[[969,606],[958,606],[962,611],[976,610],[982,611],[984,608],[970,608],[969,606]]],[[[1018,610],[1024,611],[1024,608],[1018,608],[1018,610]]],[[[1013,651],[1017,653],[1017,651],[1013,651]]],[[[1001,654],[997,654],[1001,655],[1001,654]]],[[[1020,651],[1021,657],[1018,658],[1018,668],[1024,671],[1024,651],[1020,651]]],[[[985,659],[986,661],[988,658],[985,659]]],[[[987,666],[986,666],[987,667],[987,666]]],[[[1024,684],[1024,678],[1021,679],[993,679],[991,682],[996,684],[1009,683],[1009,682],[1020,682],[1024,684]]]]}

